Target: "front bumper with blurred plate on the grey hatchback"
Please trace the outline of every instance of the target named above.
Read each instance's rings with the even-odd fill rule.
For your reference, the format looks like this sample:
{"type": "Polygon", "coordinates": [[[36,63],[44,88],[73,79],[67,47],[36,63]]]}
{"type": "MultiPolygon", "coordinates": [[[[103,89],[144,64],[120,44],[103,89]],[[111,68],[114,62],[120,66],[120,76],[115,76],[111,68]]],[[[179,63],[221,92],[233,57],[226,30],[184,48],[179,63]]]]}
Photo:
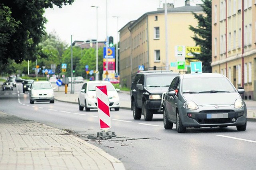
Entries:
{"type": "Polygon", "coordinates": [[[240,126],[246,123],[246,107],[236,109],[233,105],[220,107],[202,107],[198,110],[182,108],[180,118],[187,127],[240,126]]]}

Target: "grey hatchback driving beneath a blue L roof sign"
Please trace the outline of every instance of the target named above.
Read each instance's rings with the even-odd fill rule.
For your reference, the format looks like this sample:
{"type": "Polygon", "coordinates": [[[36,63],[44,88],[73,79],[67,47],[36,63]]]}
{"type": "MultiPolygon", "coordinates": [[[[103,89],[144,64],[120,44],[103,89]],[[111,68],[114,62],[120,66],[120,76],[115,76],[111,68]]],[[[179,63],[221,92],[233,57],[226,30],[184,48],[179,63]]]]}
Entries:
{"type": "Polygon", "coordinates": [[[186,128],[236,126],[246,130],[246,104],[236,88],[217,73],[178,75],[163,98],[164,128],[179,133],[186,128]]]}

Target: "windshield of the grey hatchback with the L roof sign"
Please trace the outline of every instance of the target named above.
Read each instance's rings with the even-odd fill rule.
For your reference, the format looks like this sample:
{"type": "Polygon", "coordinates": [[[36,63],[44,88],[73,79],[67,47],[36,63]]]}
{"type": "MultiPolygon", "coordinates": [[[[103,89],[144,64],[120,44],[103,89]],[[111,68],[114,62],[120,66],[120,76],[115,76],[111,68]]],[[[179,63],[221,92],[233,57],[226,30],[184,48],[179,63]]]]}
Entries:
{"type": "Polygon", "coordinates": [[[234,92],[235,89],[224,77],[186,78],[182,80],[182,93],[234,92]]]}

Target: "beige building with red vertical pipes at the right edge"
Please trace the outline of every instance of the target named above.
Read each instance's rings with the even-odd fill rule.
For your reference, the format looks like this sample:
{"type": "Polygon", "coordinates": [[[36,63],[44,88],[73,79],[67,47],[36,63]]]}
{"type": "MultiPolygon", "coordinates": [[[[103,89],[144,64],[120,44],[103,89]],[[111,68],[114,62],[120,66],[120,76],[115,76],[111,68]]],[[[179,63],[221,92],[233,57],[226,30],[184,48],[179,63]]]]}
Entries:
{"type": "Polygon", "coordinates": [[[256,0],[212,1],[211,65],[256,100],[256,0]]]}

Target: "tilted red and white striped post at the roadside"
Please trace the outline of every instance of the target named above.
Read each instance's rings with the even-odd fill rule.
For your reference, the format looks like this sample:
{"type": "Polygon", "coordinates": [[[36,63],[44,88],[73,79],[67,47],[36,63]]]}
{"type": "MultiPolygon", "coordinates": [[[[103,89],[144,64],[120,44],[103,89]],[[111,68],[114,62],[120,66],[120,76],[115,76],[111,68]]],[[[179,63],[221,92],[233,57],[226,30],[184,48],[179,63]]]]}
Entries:
{"type": "Polygon", "coordinates": [[[96,97],[100,129],[105,132],[111,128],[110,109],[108,101],[107,86],[96,86],[96,97]]]}

